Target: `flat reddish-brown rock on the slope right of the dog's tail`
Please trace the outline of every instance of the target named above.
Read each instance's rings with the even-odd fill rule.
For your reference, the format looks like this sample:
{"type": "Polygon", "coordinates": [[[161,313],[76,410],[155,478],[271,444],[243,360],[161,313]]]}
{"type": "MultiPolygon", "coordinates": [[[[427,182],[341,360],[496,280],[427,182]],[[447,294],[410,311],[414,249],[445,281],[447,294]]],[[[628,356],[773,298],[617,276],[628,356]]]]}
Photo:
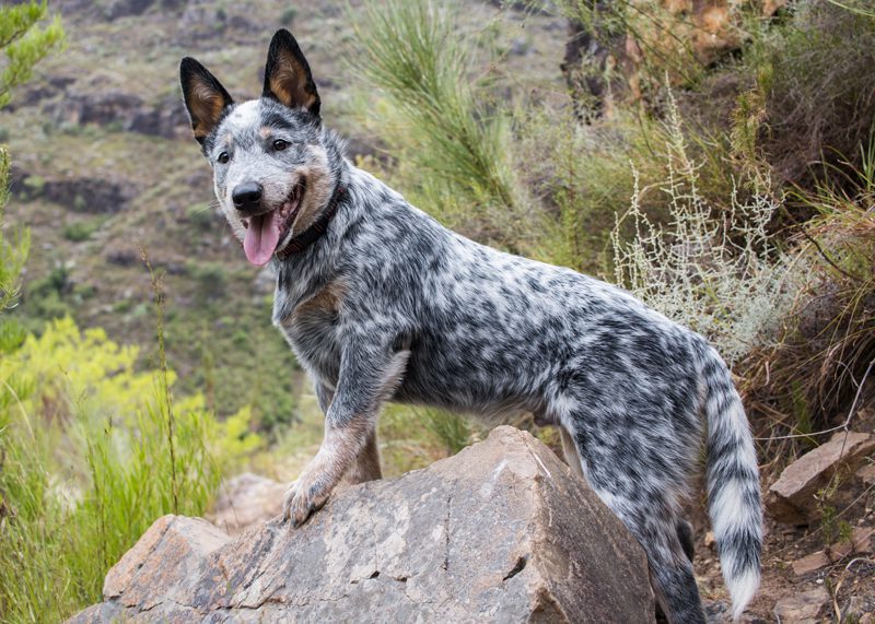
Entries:
{"type": "Polygon", "coordinates": [[[771,516],[793,525],[807,525],[819,517],[815,494],[827,485],[839,468],[853,470],[875,448],[868,434],[839,432],[825,445],[788,466],[769,488],[767,506],[771,516]]]}

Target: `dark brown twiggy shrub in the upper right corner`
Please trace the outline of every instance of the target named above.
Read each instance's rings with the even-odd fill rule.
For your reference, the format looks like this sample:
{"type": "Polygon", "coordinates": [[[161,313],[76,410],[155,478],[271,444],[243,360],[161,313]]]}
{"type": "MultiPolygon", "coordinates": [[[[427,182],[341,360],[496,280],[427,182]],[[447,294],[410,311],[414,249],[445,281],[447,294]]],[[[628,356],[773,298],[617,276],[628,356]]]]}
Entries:
{"type": "Polygon", "coordinates": [[[873,38],[871,16],[806,0],[748,50],[745,71],[766,99],[762,149],[782,180],[810,190],[833,173],[813,164],[862,165],[859,148],[875,127],[873,38]]]}

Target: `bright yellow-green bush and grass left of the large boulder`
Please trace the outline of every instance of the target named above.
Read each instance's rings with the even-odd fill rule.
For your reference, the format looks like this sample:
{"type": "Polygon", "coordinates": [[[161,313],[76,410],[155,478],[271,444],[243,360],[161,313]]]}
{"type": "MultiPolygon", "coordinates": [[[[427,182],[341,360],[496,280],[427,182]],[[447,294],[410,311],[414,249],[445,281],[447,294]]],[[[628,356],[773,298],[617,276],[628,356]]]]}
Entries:
{"type": "Polygon", "coordinates": [[[203,398],[167,400],[173,372],[70,319],[0,361],[0,620],[57,622],[168,513],[201,515],[221,469],[260,440],[203,398]]]}

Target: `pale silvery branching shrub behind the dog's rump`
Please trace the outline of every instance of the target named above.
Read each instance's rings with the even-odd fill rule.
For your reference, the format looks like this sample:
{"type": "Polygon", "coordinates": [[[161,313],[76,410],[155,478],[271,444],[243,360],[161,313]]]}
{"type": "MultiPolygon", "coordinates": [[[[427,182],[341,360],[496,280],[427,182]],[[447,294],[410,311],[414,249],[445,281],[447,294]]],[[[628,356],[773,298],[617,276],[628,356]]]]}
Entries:
{"type": "MultiPolygon", "coordinates": [[[[668,225],[641,211],[638,185],[629,219],[634,236],[612,236],[616,280],[648,304],[708,337],[728,364],[777,338],[789,313],[788,261],[768,225],[780,208],[770,189],[715,214],[698,188],[677,107],[672,103],[666,179],[668,225]]],[[[618,227],[621,221],[618,220],[618,227]]]]}

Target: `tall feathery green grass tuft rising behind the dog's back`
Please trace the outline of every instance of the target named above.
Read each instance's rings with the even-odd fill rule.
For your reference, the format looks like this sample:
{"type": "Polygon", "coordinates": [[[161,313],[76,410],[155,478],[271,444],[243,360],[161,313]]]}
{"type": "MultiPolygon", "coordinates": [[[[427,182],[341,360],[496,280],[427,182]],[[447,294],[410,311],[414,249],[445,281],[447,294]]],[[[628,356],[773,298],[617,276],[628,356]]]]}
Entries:
{"type": "Polygon", "coordinates": [[[526,204],[511,160],[510,116],[475,78],[477,40],[433,0],[366,2],[354,20],[365,125],[397,158],[404,190],[448,224],[511,245],[526,204]]]}

